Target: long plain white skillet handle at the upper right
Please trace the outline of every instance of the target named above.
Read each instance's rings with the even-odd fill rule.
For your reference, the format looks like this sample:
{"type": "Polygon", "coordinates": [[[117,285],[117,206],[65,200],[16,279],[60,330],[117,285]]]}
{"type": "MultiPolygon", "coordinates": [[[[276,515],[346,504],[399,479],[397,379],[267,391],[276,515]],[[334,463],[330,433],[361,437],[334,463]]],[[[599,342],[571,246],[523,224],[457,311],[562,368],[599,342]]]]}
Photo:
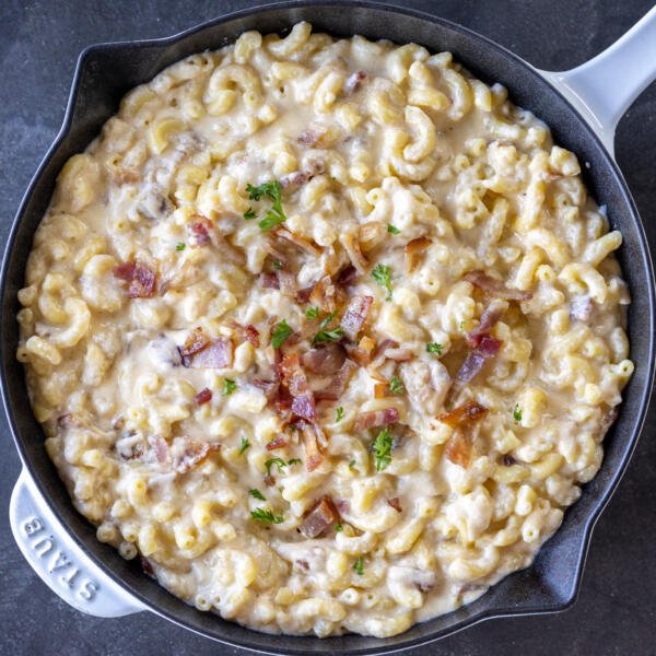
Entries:
{"type": "Polygon", "coordinates": [[[569,71],[538,71],[595,130],[614,156],[618,122],[656,79],[656,7],[609,48],[569,71]]]}

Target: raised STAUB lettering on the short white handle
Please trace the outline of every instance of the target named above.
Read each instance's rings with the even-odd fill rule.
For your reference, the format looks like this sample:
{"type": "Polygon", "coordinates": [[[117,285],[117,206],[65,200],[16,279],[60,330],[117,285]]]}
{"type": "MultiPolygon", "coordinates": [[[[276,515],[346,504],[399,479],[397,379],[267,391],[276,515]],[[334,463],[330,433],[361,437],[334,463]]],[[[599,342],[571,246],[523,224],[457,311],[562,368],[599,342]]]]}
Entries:
{"type": "Polygon", "coordinates": [[[44,522],[39,517],[32,517],[23,523],[23,530],[27,536],[27,544],[35,555],[43,560],[52,578],[68,586],[84,601],[93,601],[98,584],[84,576],[75,563],[59,549],[55,538],[48,535],[44,522]]]}

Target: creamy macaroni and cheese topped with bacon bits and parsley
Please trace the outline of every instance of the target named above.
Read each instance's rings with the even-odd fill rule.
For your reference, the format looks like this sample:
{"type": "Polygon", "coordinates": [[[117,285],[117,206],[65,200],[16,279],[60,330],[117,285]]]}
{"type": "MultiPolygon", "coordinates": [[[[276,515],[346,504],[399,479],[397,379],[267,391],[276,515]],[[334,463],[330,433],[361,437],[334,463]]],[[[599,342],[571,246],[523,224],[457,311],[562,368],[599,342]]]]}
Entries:
{"type": "Polygon", "coordinates": [[[527,566],[598,470],[621,242],[450,54],[248,32],[66,164],[17,358],[99,540],[244,625],[388,636],[527,566]]]}

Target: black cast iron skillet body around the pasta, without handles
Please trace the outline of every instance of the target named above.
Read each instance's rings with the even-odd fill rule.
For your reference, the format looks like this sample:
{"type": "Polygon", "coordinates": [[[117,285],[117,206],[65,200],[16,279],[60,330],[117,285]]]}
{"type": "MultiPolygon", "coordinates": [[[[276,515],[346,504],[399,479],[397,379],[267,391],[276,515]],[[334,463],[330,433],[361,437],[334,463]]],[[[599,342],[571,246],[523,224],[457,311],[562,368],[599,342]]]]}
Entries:
{"type": "Polygon", "coordinates": [[[566,609],[576,597],[591,528],[635,447],[653,378],[654,279],[645,236],[620,172],[587,124],[534,69],[487,38],[424,13],[370,2],[285,2],[234,13],[166,39],[87,48],[79,60],[61,132],[34,176],[13,224],[1,284],[0,365],[9,423],[26,472],[65,530],[106,575],[153,612],[207,637],[273,654],[389,653],[437,640],[489,618],[566,609]],[[283,33],[303,20],[311,21],[315,31],[336,36],[362,34],[399,44],[415,42],[431,51],[450,50],[481,80],[504,84],[515,104],[532,110],[551,127],[557,143],[575,152],[581,162],[589,162],[589,168],[584,169],[585,184],[599,204],[607,206],[612,226],[624,236],[618,257],[633,296],[629,337],[635,373],[624,390],[620,417],[606,437],[601,469],[566,512],[560,530],[530,567],[509,575],[473,604],[386,640],[356,635],[318,640],[244,629],[185,605],[144,576],[134,562],[126,562],[113,548],[98,542],[94,528],[74,511],[46,455],[42,429],[27,400],[23,366],[15,359],[16,292],[23,286],[32,238],[63,163],[84,150],[103,122],[117,112],[128,90],[151,80],[166,66],[192,52],[220,48],[246,30],[283,33]]]}

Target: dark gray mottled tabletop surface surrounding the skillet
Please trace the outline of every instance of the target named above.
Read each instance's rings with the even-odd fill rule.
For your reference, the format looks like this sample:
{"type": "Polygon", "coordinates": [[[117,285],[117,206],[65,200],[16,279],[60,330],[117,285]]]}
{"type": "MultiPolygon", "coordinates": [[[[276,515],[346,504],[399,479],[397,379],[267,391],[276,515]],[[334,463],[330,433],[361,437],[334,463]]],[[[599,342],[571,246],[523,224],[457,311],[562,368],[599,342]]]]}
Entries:
{"type": "MultiPolygon", "coordinates": [[[[168,36],[260,2],[0,0],[0,239],[63,117],[78,54],[104,40],[168,36]]],[[[484,34],[548,70],[593,57],[654,4],[651,0],[406,1],[484,34]]],[[[622,119],[617,159],[651,244],[656,244],[656,85],[622,119]]],[[[656,654],[656,411],[594,534],[577,604],[557,616],[495,620],[408,652],[429,654],[656,654]]],[[[101,620],[60,601],[23,561],[7,508],[19,458],[0,419],[0,654],[245,655],[150,613],[101,620]]]]}

